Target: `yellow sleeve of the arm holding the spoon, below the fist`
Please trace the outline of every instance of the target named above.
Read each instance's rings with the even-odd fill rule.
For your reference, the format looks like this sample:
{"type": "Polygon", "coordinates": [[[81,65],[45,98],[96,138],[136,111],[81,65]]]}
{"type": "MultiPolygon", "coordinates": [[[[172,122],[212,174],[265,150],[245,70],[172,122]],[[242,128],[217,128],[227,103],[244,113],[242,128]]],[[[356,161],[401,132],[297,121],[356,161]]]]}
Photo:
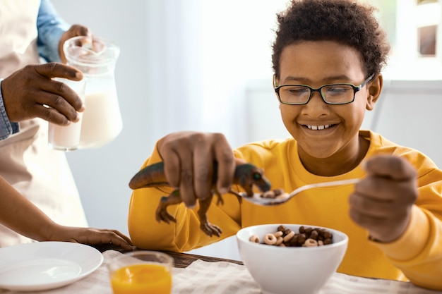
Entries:
{"type": "MultiPolygon", "coordinates": [[[[441,171],[434,171],[441,176],[441,171]]],[[[373,242],[417,286],[442,290],[442,200],[440,181],[419,188],[405,233],[392,243],[373,242]]]]}

